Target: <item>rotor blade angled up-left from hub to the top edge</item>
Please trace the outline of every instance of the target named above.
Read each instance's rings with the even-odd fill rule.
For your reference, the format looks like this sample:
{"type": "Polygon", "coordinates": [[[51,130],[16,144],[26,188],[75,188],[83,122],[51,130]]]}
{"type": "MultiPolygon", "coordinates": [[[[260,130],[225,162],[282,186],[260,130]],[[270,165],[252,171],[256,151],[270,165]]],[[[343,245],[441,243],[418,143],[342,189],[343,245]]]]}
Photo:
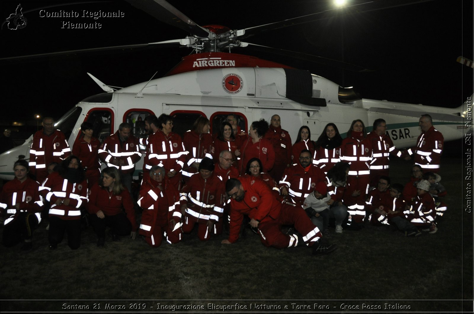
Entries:
{"type": "Polygon", "coordinates": [[[165,0],[126,0],[132,6],[141,9],[159,21],[175,26],[199,37],[208,37],[210,32],[194,23],[180,10],[165,0]]]}

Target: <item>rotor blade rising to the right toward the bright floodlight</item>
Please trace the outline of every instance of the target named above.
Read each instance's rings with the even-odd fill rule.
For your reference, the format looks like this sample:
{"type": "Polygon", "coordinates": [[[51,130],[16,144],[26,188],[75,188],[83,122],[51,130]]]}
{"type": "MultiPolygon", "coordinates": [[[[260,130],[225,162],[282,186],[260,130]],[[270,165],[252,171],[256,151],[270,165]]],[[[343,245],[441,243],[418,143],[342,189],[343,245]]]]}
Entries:
{"type": "Polygon", "coordinates": [[[382,9],[391,9],[391,8],[402,7],[402,6],[412,5],[412,4],[419,4],[422,2],[428,2],[428,1],[434,1],[434,0],[379,0],[379,1],[368,1],[364,3],[357,3],[357,4],[353,4],[351,6],[347,6],[344,8],[328,9],[328,10],[320,11],[317,13],[304,15],[301,17],[289,18],[289,19],[279,21],[279,22],[244,28],[244,29],[238,30],[238,32],[244,33],[243,35],[239,36],[239,39],[248,38],[253,35],[257,35],[261,32],[271,31],[274,29],[328,19],[328,18],[334,17],[333,13],[344,14],[345,16],[347,16],[347,15],[352,15],[352,14],[357,14],[357,13],[370,12],[370,11],[376,11],[376,10],[382,10],[382,9]]]}

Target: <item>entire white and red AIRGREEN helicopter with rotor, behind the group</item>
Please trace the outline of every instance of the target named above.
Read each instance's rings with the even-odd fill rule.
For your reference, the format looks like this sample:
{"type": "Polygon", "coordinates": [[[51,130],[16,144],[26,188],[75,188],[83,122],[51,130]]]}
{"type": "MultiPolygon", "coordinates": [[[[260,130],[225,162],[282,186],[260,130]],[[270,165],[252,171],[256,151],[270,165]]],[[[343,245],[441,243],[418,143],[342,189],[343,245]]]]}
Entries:
{"type": "MultiPolygon", "coordinates": [[[[69,145],[80,136],[80,124],[94,125],[94,136],[103,140],[116,131],[121,122],[130,122],[136,137],[145,137],[139,121],[148,114],[170,114],[175,121],[173,131],[183,134],[199,116],[211,122],[211,132],[216,132],[229,113],[238,117],[242,130],[252,121],[269,119],[279,113],[290,134],[296,134],[301,125],[310,128],[313,139],[317,138],[328,122],[334,122],[339,130],[347,130],[352,120],[360,118],[367,131],[374,119],[387,121],[387,133],[398,148],[415,145],[420,133],[419,116],[430,113],[434,125],[445,140],[460,139],[465,129],[463,105],[457,108],[422,106],[399,102],[378,101],[359,96],[353,87],[341,87],[322,76],[307,70],[295,69],[280,62],[266,61],[257,57],[232,52],[234,49],[252,47],[271,52],[272,48],[244,42],[260,31],[305,23],[315,15],[297,17],[281,22],[244,29],[230,29],[220,25],[199,26],[180,10],[164,0],[129,0],[133,6],[144,10],[162,22],[181,28],[189,33],[179,39],[144,44],[146,46],[179,45],[192,50],[162,78],[129,87],[117,88],[106,85],[90,74],[103,93],[87,97],[75,105],[56,122],[55,126],[66,134],[69,145]]],[[[357,7],[357,6],[355,6],[357,7]]],[[[360,7],[359,7],[360,8],[360,7]]],[[[88,52],[127,49],[138,45],[125,45],[86,50],[88,52]]],[[[79,51],[80,52],[80,51],[79,51]]],[[[79,53],[78,52],[78,53],[79,53]]],[[[48,55],[74,52],[55,52],[48,55]]],[[[296,56],[305,60],[317,60],[337,64],[343,69],[363,71],[364,68],[301,52],[279,49],[284,56],[296,56]]],[[[18,60],[36,56],[16,57],[18,60]]],[[[3,58],[15,59],[15,58],[3,58]]],[[[341,131],[343,132],[343,131],[341,131]]],[[[345,133],[341,134],[343,137],[345,133]]],[[[11,165],[19,155],[29,156],[32,137],[21,146],[0,155],[0,178],[13,178],[11,165]]],[[[146,153],[141,148],[142,154],[146,153]]],[[[142,159],[143,160],[143,159],[142,159]]],[[[141,171],[136,167],[136,174],[141,171]]]]}

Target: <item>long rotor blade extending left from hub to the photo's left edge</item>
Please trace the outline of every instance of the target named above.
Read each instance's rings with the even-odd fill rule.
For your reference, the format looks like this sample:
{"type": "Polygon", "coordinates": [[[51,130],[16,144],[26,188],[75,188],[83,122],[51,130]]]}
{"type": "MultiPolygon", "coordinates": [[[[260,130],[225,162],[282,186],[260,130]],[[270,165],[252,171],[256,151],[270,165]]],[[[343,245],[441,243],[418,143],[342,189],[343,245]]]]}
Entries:
{"type": "Polygon", "coordinates": [[[157,45],[160,45],[162,47],[169,47],[169,46],[176,46],[176,44],[181,44],[181,45],[190,44],[189,41],[190,39],[184,38],[184,39],[172,39],[172,40],[166,40],[164,42],[156,42],[156,43],[148,43],[148,44],[133,44],[133,45],[123,45],[123,46],[110,46],[110,47],[100,47],[100,48],[69,50],[69,51],[61,51],[61,52],[47,52],[47,53],[30,54],[30,55],[25,55],[25,56],[0,58],[0,61],[27,61],[27,60],[34,60],[34,59],[41,59],[41,58],[50,58],[50,57],[75,56],[77,54],[88,53],[88,52],[143,49],[143,48],[157,46],[157,45]]]}

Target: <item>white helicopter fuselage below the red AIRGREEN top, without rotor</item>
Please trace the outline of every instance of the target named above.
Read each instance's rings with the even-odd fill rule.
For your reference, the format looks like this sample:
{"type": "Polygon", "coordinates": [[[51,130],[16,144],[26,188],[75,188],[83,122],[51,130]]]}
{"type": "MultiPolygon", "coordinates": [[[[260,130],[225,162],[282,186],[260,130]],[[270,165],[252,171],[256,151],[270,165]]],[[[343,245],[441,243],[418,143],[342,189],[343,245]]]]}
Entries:
{"type": "MultiPolygon", "coordinates": [[[[299,78],[306,89],[301,94],[303,101],[297,102],[290,99],[294,97],[289,93],[292,96],[298,93],[295,88],[299,88],[299,82],[290,82],[290,79],[294,80],[282,68],[220,68],[184,72],[88,97],[56,124],[69,136],[72,148],[81,133],[82,122],[92,122],[97,127],[97,135],[94,135],[100,140],[117,131],[122,122],[130,122],[137,137],[145,137],[144,129],[138,126],[139,118],[162,113],[173,116],[173,131],[178,133],[189,130],[200,115],[210,120],[211,132],[215,133],[228,113],[239,117],[243,131],[248,130],[253,121],[262,118],[269,121],[273,114],[278,114],[283,129],[290,133],[293,142],[302,125],[308,126],[311,139],[316,140],[326,124],[333,122],[344,138],[353,120],[362,120],[369,132],[374,120],[383,118],[387,123],[387,133],[397,148],[416,144],[420,134],[419,116],[429,113],[435,128],[446,141],[460,139],[463,135],[462,107],[450,109],[360,98],[341,101],[341,87],[309,72],[299,78]],[[229,78],[232,78],[230,87],[229,78]],[[308,79],[311,82],[306,81],[308,79]]],[[[32,137],[23,145],[0,155],[0,178],[13,179],[13,163],[19,155],[29,158],[31,140],[32,137]]],[[[141,150],[144,156],[146,150],[144,147],[141,150]]],[[[143,158],[136,166],[135,175],[142,171],[142,166],[143,158]]]]}

